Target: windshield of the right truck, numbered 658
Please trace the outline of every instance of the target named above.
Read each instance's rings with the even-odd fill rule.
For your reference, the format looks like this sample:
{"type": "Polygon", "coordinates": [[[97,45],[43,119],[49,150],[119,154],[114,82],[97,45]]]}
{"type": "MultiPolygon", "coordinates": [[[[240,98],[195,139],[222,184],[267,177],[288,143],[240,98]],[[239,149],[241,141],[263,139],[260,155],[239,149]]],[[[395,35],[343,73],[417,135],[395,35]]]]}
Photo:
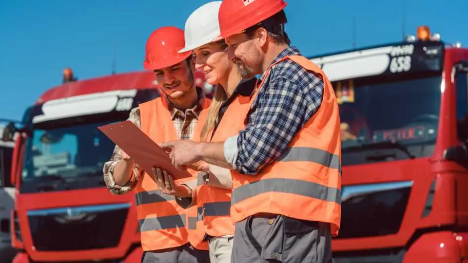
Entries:
{"type": "Polygon", "coordinates": [[[333,82],[343,165],[429,156],[437,136],[440,73],[333,82]]]}

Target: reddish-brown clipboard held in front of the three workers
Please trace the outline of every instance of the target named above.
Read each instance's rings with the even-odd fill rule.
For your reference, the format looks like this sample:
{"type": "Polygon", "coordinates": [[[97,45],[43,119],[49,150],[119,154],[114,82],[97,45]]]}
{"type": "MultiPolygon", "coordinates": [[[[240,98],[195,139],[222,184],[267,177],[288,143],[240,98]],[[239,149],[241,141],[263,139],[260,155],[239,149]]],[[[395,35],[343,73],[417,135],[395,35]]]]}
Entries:
{"type": "Polygon", "coordinates": [[[153,174],[153,167],[166,170],[174,180],[190,178],[188,171],[172,165],[169,155],[131,121],[99,126],[98,129],[125,151],[146,173],[153,174]]]}

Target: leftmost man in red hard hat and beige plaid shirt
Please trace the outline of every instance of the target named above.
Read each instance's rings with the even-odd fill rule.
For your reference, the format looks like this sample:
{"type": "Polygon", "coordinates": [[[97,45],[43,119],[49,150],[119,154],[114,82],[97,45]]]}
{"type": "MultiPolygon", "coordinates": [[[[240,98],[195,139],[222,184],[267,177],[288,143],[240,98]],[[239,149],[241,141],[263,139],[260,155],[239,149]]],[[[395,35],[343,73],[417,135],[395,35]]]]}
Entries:
{"type": "MultiPolygon", "coordinates": [[[[185,45],[184,32],[176,27],[161,27],[146,43],[146,70],[154,71],[162,95],[141,103],[130,112],[129,120],[156,142],[168,139],[191,139],[199,136],[211,100],[195,87],[195,59],[191,52],[178,53],[185,45]]],[[[175,184],[167,180],[158,188],[157,176],[167,176],[155,168],[151,174],[134,163],[118,146],[111,160],[104,164],[104,179],[113,194],[136,192],[137,217],[144,250],[141,262],[206,263],[208,244],[193,247],[189,235],[196,229],[188,226],[189,213],[196,221],[196,207],[184,210],[174,195],[191,197],[195,185],[190,181],[175,184]],[[185,184],[185,185],[184,185],[185,184]],[[190,187],[189,187],[190,186],[190,187]],[[169,195],[171,194],[171,195],[169,195]],[[197,249],[199,248],[199,249],[197,249]]],[[[201,229],[203,234],[204,230],[201,229]]]]}

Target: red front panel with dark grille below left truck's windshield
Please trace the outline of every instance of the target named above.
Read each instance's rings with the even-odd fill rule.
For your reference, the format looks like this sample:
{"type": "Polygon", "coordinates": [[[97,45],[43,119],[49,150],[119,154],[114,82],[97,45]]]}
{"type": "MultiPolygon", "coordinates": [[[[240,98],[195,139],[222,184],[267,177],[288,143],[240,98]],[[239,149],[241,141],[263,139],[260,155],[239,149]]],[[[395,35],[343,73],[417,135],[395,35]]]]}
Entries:
{"type": "Polygon", "coordinates": [[[134,194],[91,188],[18,194],[17,199],[24,248],[33,260],[123,258],[140,242],[134,194]],[[93,239],[80,237],[83,232],[93,239]]]}

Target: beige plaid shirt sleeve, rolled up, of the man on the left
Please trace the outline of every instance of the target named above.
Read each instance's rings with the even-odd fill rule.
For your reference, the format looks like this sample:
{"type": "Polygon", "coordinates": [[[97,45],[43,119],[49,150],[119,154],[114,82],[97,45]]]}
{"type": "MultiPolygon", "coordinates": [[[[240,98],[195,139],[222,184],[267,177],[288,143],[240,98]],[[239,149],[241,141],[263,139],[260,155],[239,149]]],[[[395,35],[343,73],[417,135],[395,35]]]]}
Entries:
{"type": "MultiPolygon", "coordinates": [[[[130,120],[133,124],[140,128],[138,108],[135,108],[130,112],[128,120],[130,120]]],[[[109,189],[109,191],[114,195],[126,194],[132,191],[137,186],[138,178],[141,172],[139,166],[135,164],[133,174],[130,177],[130,180],[123,186],[117,185],[114,180],[114,169],[117,165],[117,162],[122,159],[120,151],[120,148],[116,145],[112,153],[111,159],[108,162],[104,163],[104,167],[102,169],[104,174],[104,182],[106,183],[106,186],[109,189]]]]}

